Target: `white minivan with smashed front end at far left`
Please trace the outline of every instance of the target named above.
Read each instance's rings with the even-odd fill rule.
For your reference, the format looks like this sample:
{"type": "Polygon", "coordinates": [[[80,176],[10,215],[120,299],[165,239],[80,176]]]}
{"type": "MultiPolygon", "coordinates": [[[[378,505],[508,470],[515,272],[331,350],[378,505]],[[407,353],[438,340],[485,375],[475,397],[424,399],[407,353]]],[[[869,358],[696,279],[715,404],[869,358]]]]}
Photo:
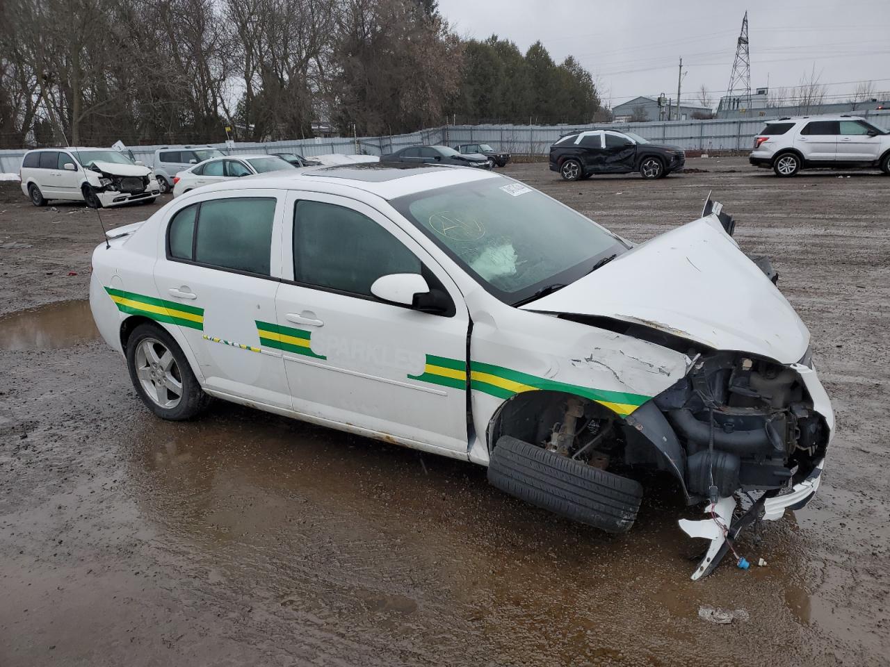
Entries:
{"type": "Polygon", "coordinates": [[[21,191],[31,204],[50,199],[85,201],[91,208],[158,197],[158,181],[151,170],[135,164],[114,149],[36,149],[21,161],[21,191]]]}

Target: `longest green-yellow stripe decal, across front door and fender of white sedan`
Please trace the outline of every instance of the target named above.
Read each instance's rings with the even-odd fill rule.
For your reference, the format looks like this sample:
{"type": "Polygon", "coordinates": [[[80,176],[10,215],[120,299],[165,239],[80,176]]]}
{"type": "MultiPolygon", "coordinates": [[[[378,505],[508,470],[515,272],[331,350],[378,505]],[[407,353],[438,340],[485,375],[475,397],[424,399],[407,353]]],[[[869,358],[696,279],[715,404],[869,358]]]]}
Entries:
{"type": "MultiPolygon", "coordinates": [[[[430,382],[454,389],[466,388],[466,365],[460,359],[449,359],[426,355],[424,372],[419,375],[409,375],[410,380],[430,382]]],[[[651,397],[642,394],[630,394],[624,391],[595,390],[589,387],[580,387],[566,382],[555,382],[514,371],[504,366],[483,364],[479,361],[470,363],[470,387],[490,396],[498,398],[511,398],[523,391],[563,391],[576,396],[582,396],[596,401],[608,407],[612,412],[622,417],[631,414],[642,406],[651,397]]]]}

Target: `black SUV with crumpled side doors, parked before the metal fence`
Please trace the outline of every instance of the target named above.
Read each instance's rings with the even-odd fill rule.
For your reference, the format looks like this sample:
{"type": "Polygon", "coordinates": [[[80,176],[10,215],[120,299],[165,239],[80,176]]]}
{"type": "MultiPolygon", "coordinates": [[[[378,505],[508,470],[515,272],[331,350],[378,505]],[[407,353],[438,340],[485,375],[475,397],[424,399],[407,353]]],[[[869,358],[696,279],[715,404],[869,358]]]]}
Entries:
{"type": "Polygon", "coordinates": [[[659,179],[682,168],[685,161],[681,148],[613,130],[566,134],[550,147],[550,171],[559,172],[565,181],[588,179],[595,173],[631,172],[659,179]]]}

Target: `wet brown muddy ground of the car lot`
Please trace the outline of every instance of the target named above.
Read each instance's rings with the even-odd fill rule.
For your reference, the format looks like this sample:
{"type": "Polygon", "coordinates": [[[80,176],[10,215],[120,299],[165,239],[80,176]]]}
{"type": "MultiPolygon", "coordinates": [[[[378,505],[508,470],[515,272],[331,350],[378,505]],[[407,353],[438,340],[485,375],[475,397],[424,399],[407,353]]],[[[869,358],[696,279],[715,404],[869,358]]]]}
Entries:
{"type": "Polygon", "coordinates": [[[676,527],[695,514],[665,489],[614,537],[469,463],[219,403],[160,422],[90,324],[95,213],[4,186],[0,664],[887,664],[890,178],[687,165],[708,171],[506,173],[635,241],[713,189],[813,333],[838,424],[820,493],[742,542],[766,567],[727,560],[700,583],[676,527]],[[705,623],[701,605],[750,620],[705,623]]]}

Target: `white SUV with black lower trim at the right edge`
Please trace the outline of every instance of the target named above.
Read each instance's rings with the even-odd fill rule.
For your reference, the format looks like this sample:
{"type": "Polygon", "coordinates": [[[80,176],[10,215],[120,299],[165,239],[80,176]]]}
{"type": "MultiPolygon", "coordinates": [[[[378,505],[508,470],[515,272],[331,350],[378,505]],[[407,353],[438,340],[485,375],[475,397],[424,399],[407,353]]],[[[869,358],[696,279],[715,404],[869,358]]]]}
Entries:
{"type": "Polygon", "coordinates": [[[748,159],[778,176],[826,167],[880,167],[890,173],[890,133],[854,116],[780,118],[767,121],[748,159]]]}

